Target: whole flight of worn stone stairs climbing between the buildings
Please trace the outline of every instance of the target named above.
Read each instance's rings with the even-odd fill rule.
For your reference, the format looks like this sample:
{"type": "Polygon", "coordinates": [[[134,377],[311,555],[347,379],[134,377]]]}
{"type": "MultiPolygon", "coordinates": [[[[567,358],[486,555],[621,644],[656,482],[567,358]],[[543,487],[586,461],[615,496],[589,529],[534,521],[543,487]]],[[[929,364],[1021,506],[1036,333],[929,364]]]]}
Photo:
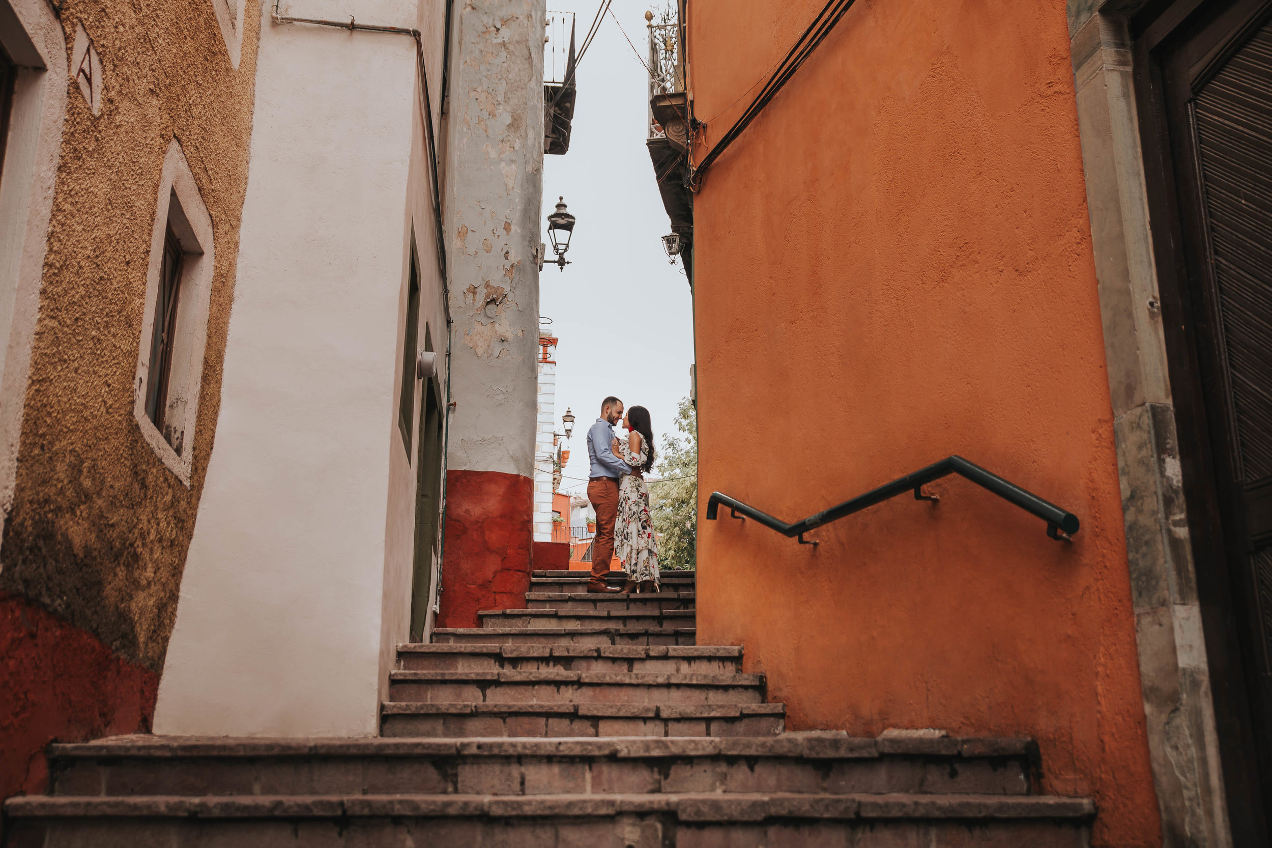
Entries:
{"type": "Polygon", "coordinates": [[[743,649],[695,644],[693,573],[403,644],[363,740],[114,737],[50,751],[9,848],[1086,845],[1094,806],[1035,793],[1028,740],[784,732],[743,649]]]}

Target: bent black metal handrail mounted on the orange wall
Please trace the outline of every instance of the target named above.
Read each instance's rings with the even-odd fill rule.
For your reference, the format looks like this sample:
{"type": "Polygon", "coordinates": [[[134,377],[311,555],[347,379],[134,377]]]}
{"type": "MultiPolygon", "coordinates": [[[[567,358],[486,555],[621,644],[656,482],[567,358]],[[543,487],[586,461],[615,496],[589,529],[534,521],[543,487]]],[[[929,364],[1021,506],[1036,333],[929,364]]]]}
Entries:
{"type": "Polygon", "coordinates": [[[887,500],[888,498],[895,498],[904,491],[913,490],[916,500],[939,500],[936,495],[923,494],[923,485],[951,474],[965,477],[982,489],[987,489],[1004,500],[1020,507],[1025,512],[1038,516],[1047,522],[1047,535],[1052,539],[1071,541],[1070,537],[1072,534],[1077,532],[1079,521],[1077,516],[1074,513],[1067,509],[1061,509],[1048,500],[1043,500],[1032,491],[1027,491],[1016,484],[1004,480],[991,471],[986,471],[974,462],[968,462],[960,456],[945,457],[940,462],[934,462],[926,469],[920,469],[913,474],[907,474],[906,476],[898,477],[897,480],[881,485],[878,489],[871,489],[862,495],[857,495],[851,500],[845,500],[837,507],[831,507],[829,509],[824,509],[815,516],[809,516],[804,521],[796,521],[794,525],[787,525],[784,521],[773,518],[768,513],[761,512],[754,507],[749,507],[736,498],[730,498],[720,491],[712,491],[711,498],[707,500],[707,521],[715,521],[720,504],[724,504],[729,508],[729,512],[734,518],[747,517],[753,521],[758,521],[770,530],[776,530],[786,537],[799,536],[799,544],[801,545],[815,545],[815,541],[804,541],[804,534],[810,530],[815,530],[822,525],[828,525],[832,521],[838,521],[845,516],[851,516],[852,513],[860,512],[866,507],[873,507],[876,503],[887,500]]]}

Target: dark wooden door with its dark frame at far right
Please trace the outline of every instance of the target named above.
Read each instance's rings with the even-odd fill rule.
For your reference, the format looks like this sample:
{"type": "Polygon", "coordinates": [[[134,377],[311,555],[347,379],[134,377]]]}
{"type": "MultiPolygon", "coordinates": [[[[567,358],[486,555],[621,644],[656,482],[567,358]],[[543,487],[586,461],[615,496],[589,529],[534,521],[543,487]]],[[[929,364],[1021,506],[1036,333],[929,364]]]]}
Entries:
{"type": "Polygon", "coordinates": [[[1187,5],[1169,32],[1142,27],[1155,41],[1140,45],[1137,78],[1225,788],[1236,844],[1262,844],[1272,809],[1272,3],[1187,5]]]}

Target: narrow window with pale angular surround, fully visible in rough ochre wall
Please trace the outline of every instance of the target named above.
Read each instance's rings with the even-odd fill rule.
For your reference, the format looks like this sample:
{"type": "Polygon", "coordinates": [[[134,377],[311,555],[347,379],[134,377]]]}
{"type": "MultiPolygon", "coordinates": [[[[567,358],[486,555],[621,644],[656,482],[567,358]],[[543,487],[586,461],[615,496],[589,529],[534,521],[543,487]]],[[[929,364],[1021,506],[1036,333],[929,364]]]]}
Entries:
{"type": "Polygon", "coordinates": [[[190,485],[212,286],[212,222],[174,139],[164,159],[150,241],[134,416],[190,485]]]}

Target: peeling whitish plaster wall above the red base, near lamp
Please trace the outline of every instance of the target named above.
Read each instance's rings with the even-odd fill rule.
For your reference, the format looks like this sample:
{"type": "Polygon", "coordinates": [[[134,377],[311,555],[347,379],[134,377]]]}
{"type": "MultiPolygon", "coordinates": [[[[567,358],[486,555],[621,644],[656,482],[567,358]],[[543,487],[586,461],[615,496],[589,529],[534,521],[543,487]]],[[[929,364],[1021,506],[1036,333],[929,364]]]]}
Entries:
{"type": "Polygon", "coordinates": [[[543,0],[457,0],[446,141],[448,467],[532,477],[543,195],[543,0]]]}

